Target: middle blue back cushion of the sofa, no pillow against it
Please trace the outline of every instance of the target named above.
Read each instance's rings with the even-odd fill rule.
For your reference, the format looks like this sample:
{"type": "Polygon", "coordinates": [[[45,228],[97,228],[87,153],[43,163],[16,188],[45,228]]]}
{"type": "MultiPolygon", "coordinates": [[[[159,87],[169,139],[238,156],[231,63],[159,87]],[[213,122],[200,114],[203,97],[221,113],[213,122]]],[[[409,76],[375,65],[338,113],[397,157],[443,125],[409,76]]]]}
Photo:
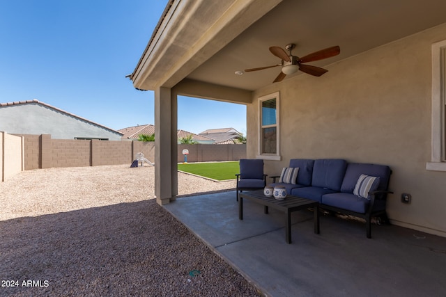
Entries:
{"type": "Polygon", "coordinates": [[[339,191],[346,167],[347,161],[343,159],[318,159],[314,161],[312,186],[339,191]]]}

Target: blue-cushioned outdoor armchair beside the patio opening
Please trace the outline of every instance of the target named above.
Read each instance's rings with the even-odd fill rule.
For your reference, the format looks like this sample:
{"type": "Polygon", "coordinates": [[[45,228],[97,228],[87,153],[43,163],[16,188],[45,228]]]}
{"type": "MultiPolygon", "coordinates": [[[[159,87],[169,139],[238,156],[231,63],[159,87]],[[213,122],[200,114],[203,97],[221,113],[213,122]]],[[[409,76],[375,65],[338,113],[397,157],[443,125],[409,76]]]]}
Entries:
{"type": "Polygon", "coordinates": [[[266,176],[263,174],[263,160],[240,159],[240,173],[237,177],[237,201],[241,191],[259,190],[266,186],[266,176]]]}

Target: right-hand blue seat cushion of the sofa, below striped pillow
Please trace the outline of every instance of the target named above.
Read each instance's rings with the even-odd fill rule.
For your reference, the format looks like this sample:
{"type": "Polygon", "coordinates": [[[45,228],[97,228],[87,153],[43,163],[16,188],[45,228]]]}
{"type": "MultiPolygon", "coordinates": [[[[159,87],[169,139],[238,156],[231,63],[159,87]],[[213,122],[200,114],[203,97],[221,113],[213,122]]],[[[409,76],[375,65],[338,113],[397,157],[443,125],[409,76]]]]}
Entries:
{"type": "Polygon", "coordinates": [[[369,209],[370,201],[350,193],[332,193],[323,195],[321,204],[365,214],[369,209]]]}

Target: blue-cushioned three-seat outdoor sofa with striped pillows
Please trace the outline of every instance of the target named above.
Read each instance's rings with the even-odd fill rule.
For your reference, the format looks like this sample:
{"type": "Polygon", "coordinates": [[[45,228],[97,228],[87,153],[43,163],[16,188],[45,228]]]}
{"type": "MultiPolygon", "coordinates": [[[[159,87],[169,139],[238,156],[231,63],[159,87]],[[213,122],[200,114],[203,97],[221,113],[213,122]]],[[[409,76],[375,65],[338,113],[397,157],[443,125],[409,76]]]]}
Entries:
{"type": "Polygon", "coordinates": [[[371,238],[371,218],[388,223],[389,166],[344,159],[291,159],[289,168],[299,168],[295,180],[286,179],[284,168],[279,181],[279,176],[273,176],[269,186],[284,186],[289,195],[315,200],[321,209],[364,218],[367,238],[371,238]]]}

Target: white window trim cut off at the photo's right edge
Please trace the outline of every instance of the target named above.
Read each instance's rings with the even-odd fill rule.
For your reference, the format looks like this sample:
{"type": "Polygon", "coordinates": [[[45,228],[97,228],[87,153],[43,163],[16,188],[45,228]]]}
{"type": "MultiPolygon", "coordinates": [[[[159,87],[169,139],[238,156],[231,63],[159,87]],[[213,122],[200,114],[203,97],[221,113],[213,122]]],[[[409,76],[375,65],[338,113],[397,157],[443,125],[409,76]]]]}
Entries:
{"type": "Polygon", "coordinates": [[[445,74],[446,40],[432,45],[432,138],[431,161],[426,170],[446,171],[445,152],[445,74]]]}

